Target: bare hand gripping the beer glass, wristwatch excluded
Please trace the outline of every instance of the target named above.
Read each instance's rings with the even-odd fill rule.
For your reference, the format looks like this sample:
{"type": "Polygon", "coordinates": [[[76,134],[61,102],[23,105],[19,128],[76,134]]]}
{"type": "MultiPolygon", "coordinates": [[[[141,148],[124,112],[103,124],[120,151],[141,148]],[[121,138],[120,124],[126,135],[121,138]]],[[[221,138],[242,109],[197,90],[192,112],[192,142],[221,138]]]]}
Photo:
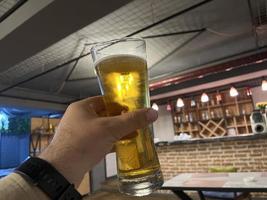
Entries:
{"type": "Polygon", "coordinates": [[[111,151],[117,140],[146,127],[158,117],[151,108],[100,117],[104,111],[101,96],[72,103],[51,144],[40,155],[76,187],[84,174],[111,151]]]}

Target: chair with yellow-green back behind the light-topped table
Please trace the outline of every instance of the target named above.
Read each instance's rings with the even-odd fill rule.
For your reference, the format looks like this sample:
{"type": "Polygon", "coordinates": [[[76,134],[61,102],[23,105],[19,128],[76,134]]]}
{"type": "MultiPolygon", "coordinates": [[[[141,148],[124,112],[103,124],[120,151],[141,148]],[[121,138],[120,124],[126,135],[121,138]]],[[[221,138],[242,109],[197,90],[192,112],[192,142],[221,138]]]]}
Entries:
{"type": "MultiPolygon", "coordinates": [[[[223,173],[223,172],[237,172],[237,168],[232,166],[226,167],[211,167],[209,172],[223,173]]],[[[251,200],[249,192],[219,192],[219,191],[199,191],[200,199],[212,199],[212,200],[251,200]]]]}

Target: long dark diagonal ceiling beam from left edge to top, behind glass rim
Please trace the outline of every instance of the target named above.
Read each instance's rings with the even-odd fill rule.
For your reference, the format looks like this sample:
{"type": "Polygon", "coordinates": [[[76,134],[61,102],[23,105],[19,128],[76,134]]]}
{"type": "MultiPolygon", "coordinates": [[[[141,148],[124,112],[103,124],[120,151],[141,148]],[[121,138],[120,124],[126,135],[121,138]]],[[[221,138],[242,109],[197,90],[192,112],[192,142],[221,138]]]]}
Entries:
{"type": "MultiPolygon", "coordinates": [[[[163,22],[166,22],[166,21],[168,21],[168,20],[170,20],[170,19],[172,19],[172,18],[174,18],[174,17],[178,17],[178,16],[180,16],[180,15],[182,15],[182,14],[184,14],[184,13],[187,13],[187,12],[189,12],[189,11],[191,11],[191,10],[193,10],[193,9],[196,9],[196,8],[198,8],[199,6],[202,6],[202,5],[204,5],[204,4],[206,4],[206,3],[209,3],[209,2],[211,2],[211,1],[214,1],[214,0],[206,0],[206,1],[202,1],[202,2],[200,2],[200,3],[197,3],[197,4],[195,4],[195,5],[193,5],[193,6],[190,6],[190,7],[186,8],[186,9],[184,9],[184,10],[182,10],[182,11],[179,11],[179,12],[177,12],[177,13],[171,15],[171,16],[168,16],[168,17],[166,17],[166,18],[164,18],[164,19],[162,19],[162,20],[159,20],[158,22],[155,22],[155,23],[153,23],[153,24],[151,24],[151,25],[149,25],[149,26],[146,26],[146,27],[144,27],[144,28],[142,28],[142,29],[139,29],[139,30],[137,30],[137,31],[135,31],[135,32],[133,32],[133,33],[131,33],[131,34],[128,34],[126,37],[134,36],[134,35],[136,35],[136,34],[138,34],[138,33],[141,33],[141,32],[143,32],[143,31],[145,31],[145,30],[148,30],[148,29],[150,29],[150,28],[152,28],[152,27],[154,27],[154,26],[156,26],[156,25],[159,25],[159,24],[161,24],[161,23],[163,23],[163,22]]],[[[71,60],[69,60],[69,61],[66,61],[66,62],[64,62],[64,63],[62,63],[62,64],[60,64],[60,65],[57,65],[56,67],[51,68],[51,69],[49,69],[49,70],[47,70],[47,71],[45,71],[45,72],[42,72],[42,73],[37,74],[37,75],[35,75],[35,76],[32,76],[32,77],[30,77],[30,78],[28,78],[28,79],[26,79],[26,80],[23,80],[23,81],[20,81],[20,82],[18,82],[18,83],[15,83],[15,84],[13,84],[13,85],[11,85],[11,86],[8,86],[8,87],[6,87],[6,88],[0,90],[0,94],[3,93],[3,92],[5,92],[5,91],[7,91],[7,90],[10,90],[10,89],[12,89],[12,88],[14,88],[14,87],[17,87],[17,86],[19,86],[19,85],[21,85],[21,84],[23,84],[23,83],[26,83],[26,82],[28,82],[28,81],[31,81],[31,80],[33,80],[33,79],[35,79],[35,78],[38,78],[38,77],[40,77],[40,76],[43,76],[43,75],[48,74],[48,73],[50,73],[50,72],[53,72],[53,71],[55,71],[55,70],[57,70],[57,69],[63,68],[63,67],[65,67],[65,65],[71,64],[72,62],[77,62],[79,59],[84,58],[84,57],[86,57],[86,56],[88,56],[88,55],[90,55],[90,52],[85,53],[85,54],[83,54],[83,55],[81,55],[81,56],[75,57],[75,58],[73,58],[73,59],[71,59],[71,60]]],[[[91,77],[90,77],[90,79],[91,79],[91,77]]]]}

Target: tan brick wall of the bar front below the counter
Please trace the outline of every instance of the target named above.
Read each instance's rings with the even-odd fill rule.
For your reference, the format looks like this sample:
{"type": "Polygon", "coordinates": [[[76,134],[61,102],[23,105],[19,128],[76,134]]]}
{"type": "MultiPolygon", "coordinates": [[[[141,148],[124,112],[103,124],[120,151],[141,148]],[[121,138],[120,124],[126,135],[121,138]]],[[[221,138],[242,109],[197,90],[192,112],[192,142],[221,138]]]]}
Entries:
{"type": "Polygon", "coordinates": [[[239,172],[267,171],[267,138],[157,147],[164,179],[181,172],[207,172],[212,166],[231,165],[239,172]]]}

